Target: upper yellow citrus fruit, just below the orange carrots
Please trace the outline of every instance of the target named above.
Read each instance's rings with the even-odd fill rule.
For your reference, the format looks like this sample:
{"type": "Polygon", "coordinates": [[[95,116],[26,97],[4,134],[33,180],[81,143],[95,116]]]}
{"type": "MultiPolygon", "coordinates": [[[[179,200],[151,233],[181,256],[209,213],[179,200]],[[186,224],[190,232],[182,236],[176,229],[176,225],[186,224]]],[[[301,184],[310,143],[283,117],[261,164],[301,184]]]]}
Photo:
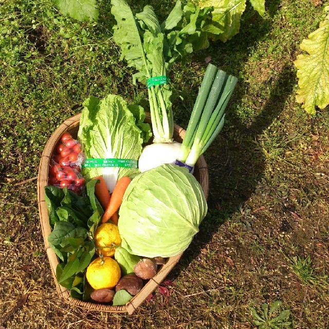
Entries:
{"type": "Polygon", "coordinates": [[[105,257],[113,257],[115,248],[104,248],[111,246],[120,246],[121,237],[119,234],[118,226],[112,223],[104,223],[100,225],[95,231],[95,244],[99,254],[103,254],[105,257]]]}

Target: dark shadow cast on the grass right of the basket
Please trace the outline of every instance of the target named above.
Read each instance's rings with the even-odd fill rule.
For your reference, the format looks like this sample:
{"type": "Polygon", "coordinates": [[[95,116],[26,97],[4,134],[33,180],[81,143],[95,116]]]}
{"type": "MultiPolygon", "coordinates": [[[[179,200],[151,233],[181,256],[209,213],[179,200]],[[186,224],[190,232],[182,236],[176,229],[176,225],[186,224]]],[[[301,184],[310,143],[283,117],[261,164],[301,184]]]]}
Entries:
{"type": "MultiPolygon", "coordinates": [[[[272,2],[269,10],[277,8],[279,3],[272,2]]],[[[248,10],[246,16],[248,17],[242,22],[240,34],[226,44],[217,43],[197,54],[194,61],[202,62],[206,56],[211,56],[212,63],[230,74],[239,75],[252,48],[271,28],[269,20],[263,20],[252,10],[248,10]]],[[[175,279],[197,257],[218,228],[254,193],[265,169],[264,155],[255,141],[283,111],[287,98],[293,92],[295,81],[293,63],[291,66],[284,66],[279,75],[265,81],[270,89],[269,97],[261,102],[257,115],[249,123],[241,120],[233,106],[241,105],[242,97],[248,93],[248,82],[238,83],[232,106],[227,110],[229,128],[221,133],[221,137],[217,138],[218,141],[205,155],[210,176],[208,215],[178,265],[170,273],[170,279],[175,279]]],[[[197,90],[193,92],[197,93],[197,90]]],[[[191,94],[191,90],[186,90],[186,95],[188,94],[191,94]]],[[[184,121],[184,118],[180,119],[184,121]]],[[[182,124],[186,126],[187,123],[182,124]]]]}

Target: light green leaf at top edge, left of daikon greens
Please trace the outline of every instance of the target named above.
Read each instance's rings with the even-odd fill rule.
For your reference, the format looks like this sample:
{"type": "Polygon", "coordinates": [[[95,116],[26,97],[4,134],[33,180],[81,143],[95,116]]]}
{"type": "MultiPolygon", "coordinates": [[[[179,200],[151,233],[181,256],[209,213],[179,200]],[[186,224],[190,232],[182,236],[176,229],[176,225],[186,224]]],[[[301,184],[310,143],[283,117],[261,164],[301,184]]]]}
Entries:
{"type": "Polygon", "coordinates": [[[98,20],[96,0],[54,0],[54,3],[63,15],[80,22],[98,20]]]}

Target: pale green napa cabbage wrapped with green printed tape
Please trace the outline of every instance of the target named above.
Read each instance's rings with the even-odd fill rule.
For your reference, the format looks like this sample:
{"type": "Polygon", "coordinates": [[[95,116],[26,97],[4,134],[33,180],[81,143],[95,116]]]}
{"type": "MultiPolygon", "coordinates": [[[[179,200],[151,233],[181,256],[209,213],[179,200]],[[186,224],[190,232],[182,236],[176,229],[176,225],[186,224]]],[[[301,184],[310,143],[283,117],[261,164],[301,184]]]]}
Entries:
{"type": "MultiPolygon", "coordinates": [[[[90,97],[83,105],[78,138],[84,145],[86,157],[138,160],[143,143],[141,130],[137,127],[135,117],[123,98],[117,95],[108,95],[101,100],[90,97]]],[[[138,116],[140,121],[140,114],[138,116]]],[[[144,132],[143,135],[147,133],[144,132]]],[[[110,192],[121,176],[133,178],[138,173],[138,169],[122,167],[96,167],[83,170],[87,180],[103,176],[110,192]]]]}

